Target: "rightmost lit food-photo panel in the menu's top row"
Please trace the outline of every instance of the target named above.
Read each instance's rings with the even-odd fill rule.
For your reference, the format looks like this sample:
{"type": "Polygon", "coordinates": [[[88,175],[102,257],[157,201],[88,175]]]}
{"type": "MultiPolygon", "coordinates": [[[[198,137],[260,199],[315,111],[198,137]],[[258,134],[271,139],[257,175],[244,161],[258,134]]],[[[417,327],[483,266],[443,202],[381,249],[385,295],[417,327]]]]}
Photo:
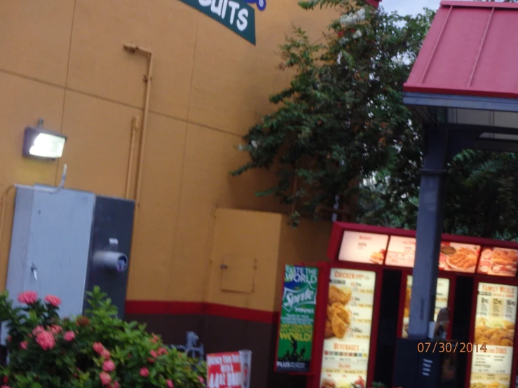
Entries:
{"type": "Polygon", "coordinates": [[[518,251],[504,248],[484,248],[480,254],[477,273],[515,277],[518,266],[518,251]]]}

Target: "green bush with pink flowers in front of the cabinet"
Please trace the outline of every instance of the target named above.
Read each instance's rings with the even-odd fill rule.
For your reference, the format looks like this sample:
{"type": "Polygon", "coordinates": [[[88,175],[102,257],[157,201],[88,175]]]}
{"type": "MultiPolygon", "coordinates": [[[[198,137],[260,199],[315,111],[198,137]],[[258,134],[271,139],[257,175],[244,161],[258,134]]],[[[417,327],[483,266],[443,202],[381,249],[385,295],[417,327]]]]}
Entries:
{"type": "Polygon", "coordinates": [[[205,364],[168,349],[145,326],[116,318],[117,309],[98,287],[88,293],[86,317],[60,318],[61,300],[34,291],[13,307],[0,294],[0,320],[8,321],[8,365],[2,388],[205,387],[205,364]]]}

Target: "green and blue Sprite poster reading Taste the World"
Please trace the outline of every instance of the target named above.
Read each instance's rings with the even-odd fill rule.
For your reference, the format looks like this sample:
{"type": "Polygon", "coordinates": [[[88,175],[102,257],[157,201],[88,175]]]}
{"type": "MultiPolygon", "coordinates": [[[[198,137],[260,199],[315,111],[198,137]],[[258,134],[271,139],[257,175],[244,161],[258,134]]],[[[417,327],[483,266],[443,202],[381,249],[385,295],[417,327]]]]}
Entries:
{"type": "Polygon", "coordinates": [[[310,370],[313,324],[317,301],[318,269],[286,265],[276,370],[310,370]]]}

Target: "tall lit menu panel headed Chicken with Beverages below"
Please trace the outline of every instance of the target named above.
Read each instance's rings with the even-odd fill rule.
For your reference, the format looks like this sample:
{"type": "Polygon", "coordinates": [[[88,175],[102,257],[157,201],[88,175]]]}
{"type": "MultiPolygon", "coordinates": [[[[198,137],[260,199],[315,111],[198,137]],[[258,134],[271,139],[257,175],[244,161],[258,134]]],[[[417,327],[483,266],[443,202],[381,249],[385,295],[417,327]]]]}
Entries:
{"type": "Polygon", "coordinates": [[[321,388],[365,387],[376,272],[331,270],[321,388]]]}

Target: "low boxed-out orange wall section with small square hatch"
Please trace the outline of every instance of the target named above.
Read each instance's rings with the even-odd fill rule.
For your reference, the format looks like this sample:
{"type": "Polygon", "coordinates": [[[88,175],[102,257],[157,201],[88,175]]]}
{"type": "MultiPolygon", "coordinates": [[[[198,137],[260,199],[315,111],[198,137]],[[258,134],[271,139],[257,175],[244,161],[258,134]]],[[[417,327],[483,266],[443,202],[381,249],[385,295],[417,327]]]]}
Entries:
{"type": "Polygon", "coordinates": [[[278,311],[286,264],[325,261],[331,223],[278,213],[217,209],[207,266],[207,302],[278,311]],[[223,265],[223,267],[222,267],[223,265]]]}

